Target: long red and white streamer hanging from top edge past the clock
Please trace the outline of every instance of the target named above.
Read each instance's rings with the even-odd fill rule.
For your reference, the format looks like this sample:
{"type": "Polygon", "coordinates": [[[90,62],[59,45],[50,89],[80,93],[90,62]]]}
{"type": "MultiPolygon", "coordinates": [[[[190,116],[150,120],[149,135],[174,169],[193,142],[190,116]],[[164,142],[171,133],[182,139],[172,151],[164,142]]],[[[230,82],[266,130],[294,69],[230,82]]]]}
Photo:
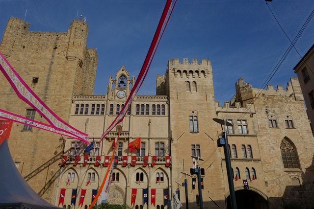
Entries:
{"type": "Polygon", "coordinates": [[[162,11],[157,29],[155,31],[155,35],[153,38],[153,41],[151,43],[151,46],[148,49],[147,55],[145,57],[144,63],[142,65],[142,68],[137,76],[137,79],[135,81],[135,84],[131,90],[131,93],[129,95],[129,97],[127,98],[127,101],[125,103],[125,105],[123,106],[123,108],[121,109],[120,113],[118,114],[118,116],[116,116],[116,118],[113,120],[113,122],[109,125],[109,127],[107,128],[107,130],[105,130],[104,134],[102,135],[102,138],[100,141],[102,141],[105,136],[114,128],[117,126],[117,124],[119,124],[120,122],[122,122],[124,116],[127,114],[132,101],[134,100],[136,93],[138,92],[139,88],[141,87],[147,73],[148,70],[151,66],[151,63],[153,61],[155,52],[157,50],[157,47],[159,45],[159,42],[161,40],[161,37],[163,35],[163,32],[166,29],[167,23],[169,21],[169,18],[172,14],[173,8],[176,5],[177,0],[167,0],[166,5],[162,11]]]}

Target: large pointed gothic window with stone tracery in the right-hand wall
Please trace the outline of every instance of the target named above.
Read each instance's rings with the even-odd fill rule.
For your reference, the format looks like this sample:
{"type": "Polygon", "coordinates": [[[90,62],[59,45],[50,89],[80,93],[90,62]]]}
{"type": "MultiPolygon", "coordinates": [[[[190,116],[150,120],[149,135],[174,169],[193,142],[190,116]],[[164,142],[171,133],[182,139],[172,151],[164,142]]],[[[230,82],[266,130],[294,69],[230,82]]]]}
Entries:
{"type": "Polygon", "coordinates": [[[296,148],[289,139],[281,141],[280,149],[285,168],[300,168],[296,148]]]}

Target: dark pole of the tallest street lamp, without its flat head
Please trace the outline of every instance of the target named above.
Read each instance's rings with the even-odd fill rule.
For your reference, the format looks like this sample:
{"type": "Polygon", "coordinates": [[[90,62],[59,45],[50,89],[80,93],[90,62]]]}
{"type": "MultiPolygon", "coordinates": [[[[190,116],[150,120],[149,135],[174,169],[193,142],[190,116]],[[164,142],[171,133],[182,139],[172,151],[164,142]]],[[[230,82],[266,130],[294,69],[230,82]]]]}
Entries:
{"type": "Polygon", "coordinates": [[[229,190],[230,190],[231,206],[232,206],[232,209],[236,209],[235,186],[234,186],[234,180],[232,178],[230,153],[228,150],[228,136],[226,132],[222,132],[221,135],[225,139],[225,144],[223,146],[224,146],[224,152],[225,152],[225,161],[226,161],[228,184],[229,184],[229,190]]]}

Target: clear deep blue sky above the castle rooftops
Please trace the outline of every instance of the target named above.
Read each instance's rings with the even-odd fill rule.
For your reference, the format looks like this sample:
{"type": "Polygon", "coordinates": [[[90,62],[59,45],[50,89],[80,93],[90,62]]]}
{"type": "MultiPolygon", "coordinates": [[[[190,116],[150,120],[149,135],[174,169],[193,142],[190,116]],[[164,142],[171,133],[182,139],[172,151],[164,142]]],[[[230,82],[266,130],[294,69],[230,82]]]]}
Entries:
{"type": "MultiPolygon", "coordinates": [[[[135,78],[153,39],[166,0],[0,0],[0,36],[10,17],[30,31],[67,32],[80,15],[89,26],[87,46],[97,48],[95,94],[105,94],[109,75],[125,65],[135,78]]],[[[269,7],[290,40],[314,9],[313,0],[273,0],[269,7]]],[[[303,56],[314,44],[314,20],[295,47],[303,56]]],[[[235,82],[261,88],[290,45],[264,0],[178,0],[138,94],[156,93],[156,74],[169,59],[209,59],[215,99],[235,94],[235,82]],[[153,85],[152,85],[153,84],[153,85]]],[[[301,57],[293,49],[269,84],[287,86],[301,57]]]]}

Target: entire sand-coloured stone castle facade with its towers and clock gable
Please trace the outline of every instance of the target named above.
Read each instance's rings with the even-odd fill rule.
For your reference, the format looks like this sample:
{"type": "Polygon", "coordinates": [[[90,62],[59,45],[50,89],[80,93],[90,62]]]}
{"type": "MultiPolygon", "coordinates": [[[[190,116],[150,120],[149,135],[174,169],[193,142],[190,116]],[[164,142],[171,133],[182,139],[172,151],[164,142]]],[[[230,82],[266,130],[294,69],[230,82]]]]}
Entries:
{"type": "MultiPolygon", "coordinates": [[[[0,52],[43,101],[95,141],[95,149],[84,154],[87,145],[77,140],[23,130],[14,123],[9,140],[13,160],[44,199],[58,205],[60,191],[65,188],[60,207],[70,209],[72,191],[77,189],[78,208],[81,191],[86,189],[82,207],[87,208],[93,189],[99,189],[108,168],[105,162],[112,155],[112,141],[121,131],[108,202],[130,205],[131,191],[137,188],[135,209],[163,209],[167,207],[163,191],[168,189],[170,196],[180,190],[186,208],[180,185],[187,179],[188,208],[197,209],[197,179],[192,187],[192,179],[197,178],[192,168],[194,155],[204,160],[200,162],[203,208],[230,208],[224,151],[216,142],[225,127],[212,120],[224,118],[233,124],[226,131],[238,208],[275,209],[292,202],[313,207],[314,140],[296,78],[290,79],[286,89],[268,85],[266,90],[253,88],[240,78],[235,83],[235,96],[221,106],[214,98],[209,60],[171,59],[166,73],[157,75],[156,95],[135,96],[123,122],[100,142],[125,104],[135,78],[122,66],[115,77],[109,77],[107,93],[94,95],[91,84],[95,82],[97,54],[86,47],[86,38],[87,25],[79,20],[71,23],[68,33],[40,33],[28,32],[28,23],[10,19],[0,46],[0,52]],[[42,48],[40,43],[51,45],[42,48]],[[65,76],[69,76],[66,83],[65,76]],[[34,78],[38,78],[37,84],[32,83],[34,78]],[[87,81],[89,85],[85,85],[87,81]],[[140,149],[129,152],[128,143],[139,137],[140,149]],[[64,165],[63,156],[67,156],[64,165]],[[244,188],[243,180],[248,181],[249,189],[244,188]],[[148,188],[148,206],[143,206],[144,188],[148,188]],[[151,204],[152,189],[156,189],[155,206],[151,204]]],[[[29,108],[3,83],[2,95],[9,100],[0,102],[1,109],[25,115],[29,108]]],[[[46,122],[38,114],[35,120],[46,122]]]]}

